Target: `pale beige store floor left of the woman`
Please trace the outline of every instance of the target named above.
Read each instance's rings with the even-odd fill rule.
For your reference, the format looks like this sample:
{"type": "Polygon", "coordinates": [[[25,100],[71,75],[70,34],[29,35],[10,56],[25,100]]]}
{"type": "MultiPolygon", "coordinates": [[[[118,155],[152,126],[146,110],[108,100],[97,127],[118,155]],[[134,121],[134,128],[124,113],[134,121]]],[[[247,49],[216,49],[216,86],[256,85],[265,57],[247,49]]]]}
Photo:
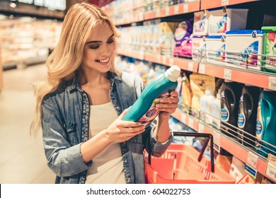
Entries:
{"type": "Polygon", "coordinates": [[[45,75],[45,64],[4,71],[0,93],[0,183],[51,184],[41,133],[30,136],[35,110],[32,83],[45,75]]]}

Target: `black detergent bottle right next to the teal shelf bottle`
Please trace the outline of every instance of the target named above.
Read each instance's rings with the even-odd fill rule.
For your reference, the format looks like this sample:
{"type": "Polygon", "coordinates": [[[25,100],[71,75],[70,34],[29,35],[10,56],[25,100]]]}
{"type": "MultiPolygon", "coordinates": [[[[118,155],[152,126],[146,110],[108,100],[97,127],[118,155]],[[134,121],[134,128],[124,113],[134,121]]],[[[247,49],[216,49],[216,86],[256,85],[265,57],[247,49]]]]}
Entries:
{"type": "Polygon", "coordinates": [[[255,131],[260,88],[244,85],[238,105],[238,128],[247,132],[238,131],[239,141],[244,146],[255,146],[255,131]],[[249,135],[251,134],[251,135],[249,135]]]}

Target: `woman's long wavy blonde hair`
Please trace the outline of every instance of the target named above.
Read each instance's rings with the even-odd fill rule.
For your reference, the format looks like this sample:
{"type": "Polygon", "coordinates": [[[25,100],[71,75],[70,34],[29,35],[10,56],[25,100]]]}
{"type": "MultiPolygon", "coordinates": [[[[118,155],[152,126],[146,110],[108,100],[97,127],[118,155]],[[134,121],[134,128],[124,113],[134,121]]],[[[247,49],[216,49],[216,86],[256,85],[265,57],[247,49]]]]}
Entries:
{"type": "MultiPolygon", "coordinates": [[[[30,125],[30,134],[34,136],[41,129],[41,103],[45,95],[55,91],[60,83],[74,78],[75,72],[81,66],[84,54],[84,46],[97,25],[107,23],[113,30],[115,37],[120,33],[115,28],[113,21],[92,4],[74,4],[69,8],[62,24],[62,33],[57,46],[46,61],[47,76],[45,81],[34,84],[36,107],[35,117],[30,125]]],[[[120,74],[115,69],[115,56],[112,59],[110,71],[120,74]]]]}

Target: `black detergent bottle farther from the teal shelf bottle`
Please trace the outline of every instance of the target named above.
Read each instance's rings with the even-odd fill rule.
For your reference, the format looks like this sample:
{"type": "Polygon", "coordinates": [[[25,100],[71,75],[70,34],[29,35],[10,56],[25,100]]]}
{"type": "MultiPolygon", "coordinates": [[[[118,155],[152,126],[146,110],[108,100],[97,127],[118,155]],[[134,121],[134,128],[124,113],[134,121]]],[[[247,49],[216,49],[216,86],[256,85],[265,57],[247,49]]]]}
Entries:
{"type": "Polygon", "coordinates": [[[237,136],[236,129],[238,120],[238,99],[241,95],[241,84],[225,80],[221,88],[221,129],[228,136],[237,136]],[[230,126],[229,124],[234,127],[230,126]]]}

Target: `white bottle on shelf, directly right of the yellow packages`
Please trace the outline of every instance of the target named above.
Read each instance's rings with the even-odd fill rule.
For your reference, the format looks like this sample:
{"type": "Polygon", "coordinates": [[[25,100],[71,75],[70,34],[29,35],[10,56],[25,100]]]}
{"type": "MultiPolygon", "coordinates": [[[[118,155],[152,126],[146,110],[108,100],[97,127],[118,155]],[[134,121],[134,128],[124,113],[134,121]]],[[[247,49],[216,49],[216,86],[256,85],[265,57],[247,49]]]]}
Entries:
{"type": "Polygon", "coordinates": [[[214,91],[205,90],[205,95],[200,98],[200,118],[205,124],[212,125],[212,101],[214,101],[214,91]]]}

